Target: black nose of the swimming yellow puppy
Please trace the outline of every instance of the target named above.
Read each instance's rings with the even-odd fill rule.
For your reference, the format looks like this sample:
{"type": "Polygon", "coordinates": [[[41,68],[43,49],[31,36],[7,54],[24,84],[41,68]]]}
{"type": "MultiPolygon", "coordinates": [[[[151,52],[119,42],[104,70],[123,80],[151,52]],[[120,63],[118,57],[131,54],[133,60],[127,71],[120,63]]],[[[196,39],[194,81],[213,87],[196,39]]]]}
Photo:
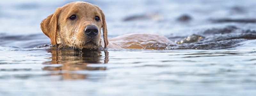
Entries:
{"type": "Polygon", "coordinates": [[[98,28],[97,26],[95,25],[87,25],[84,29],[84,33],[87,35],[87,36],[90,36],[90,37],[94,37],[96,36],[99,32],[98,32],[98,28]]]}

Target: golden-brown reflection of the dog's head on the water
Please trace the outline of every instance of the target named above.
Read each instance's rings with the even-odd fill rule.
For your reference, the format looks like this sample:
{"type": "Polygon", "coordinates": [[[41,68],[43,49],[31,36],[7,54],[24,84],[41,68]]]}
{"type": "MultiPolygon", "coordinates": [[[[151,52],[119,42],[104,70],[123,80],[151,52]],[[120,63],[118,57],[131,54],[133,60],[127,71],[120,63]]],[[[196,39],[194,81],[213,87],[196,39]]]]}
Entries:
{"type": "Polygon", "coordinates": [[[43,70],[51,71],[50,76],[60,75],[62,80],[86,79],[86,74],[78,74],[78,70],[106,70],[106,67],[90,67],[88,64],[106,64],[108,63],[107,50],[74,50],[57,49],[48,50],[51,52],[51,61],[44,62],[49,65],[43,70]],[[61,64],[61,66],[51,66],[52,64],[61,64]]]}

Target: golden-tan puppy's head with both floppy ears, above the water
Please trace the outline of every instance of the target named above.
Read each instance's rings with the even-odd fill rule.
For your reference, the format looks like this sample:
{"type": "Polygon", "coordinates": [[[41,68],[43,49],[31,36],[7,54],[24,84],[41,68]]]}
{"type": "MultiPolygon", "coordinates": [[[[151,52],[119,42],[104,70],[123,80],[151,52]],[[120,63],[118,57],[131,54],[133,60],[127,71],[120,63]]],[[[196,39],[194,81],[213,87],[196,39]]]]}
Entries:
{"type": "Polygon", "coordinates": [[[86,2],[66,4],[41,22],[41,29],[51,44],[77,48],[99,48],[101,28],[104,47],[108,45],[107,25],[102,10],[86,2]]]}

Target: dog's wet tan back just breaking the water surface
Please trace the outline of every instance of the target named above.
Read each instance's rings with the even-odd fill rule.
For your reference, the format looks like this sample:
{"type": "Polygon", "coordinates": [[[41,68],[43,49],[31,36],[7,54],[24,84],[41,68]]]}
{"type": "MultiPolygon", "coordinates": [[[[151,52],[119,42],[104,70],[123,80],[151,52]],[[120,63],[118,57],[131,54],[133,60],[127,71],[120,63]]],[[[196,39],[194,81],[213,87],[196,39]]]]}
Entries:
{"type": "Polygon", "coordinates": [[[127,34],[108,40],[110,49],[152,49],[152,45],[166,46],[171,44],[165,36],[155,34],[127,34]]]}

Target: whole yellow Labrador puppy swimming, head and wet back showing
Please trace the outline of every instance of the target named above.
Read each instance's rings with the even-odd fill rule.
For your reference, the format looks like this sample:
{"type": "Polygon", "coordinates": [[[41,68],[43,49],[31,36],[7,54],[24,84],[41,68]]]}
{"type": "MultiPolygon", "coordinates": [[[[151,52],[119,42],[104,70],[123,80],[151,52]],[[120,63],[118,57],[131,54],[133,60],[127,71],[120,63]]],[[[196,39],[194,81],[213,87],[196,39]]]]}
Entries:
{"type": "Polygon", "coordinates": [[[72,2],[56,9],[41,24],[43,33],[52,45],[79,49],[152,49],[152,45],[172,43],[165,36],[154,34],[127,34],[108,40],[105,15],[100,7],[86,2],[72,2]],[[103,30],[103,40],[101,39],[103,30]]]}

